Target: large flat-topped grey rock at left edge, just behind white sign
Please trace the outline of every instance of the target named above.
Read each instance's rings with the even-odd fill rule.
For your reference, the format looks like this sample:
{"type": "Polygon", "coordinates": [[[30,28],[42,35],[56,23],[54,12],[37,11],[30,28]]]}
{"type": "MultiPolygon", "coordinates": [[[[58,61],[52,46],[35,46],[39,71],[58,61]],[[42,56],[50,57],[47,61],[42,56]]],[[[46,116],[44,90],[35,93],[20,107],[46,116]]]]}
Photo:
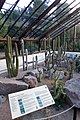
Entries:
{"type": "Polygon", "coordinates": [[[28,85],[26,83],[8,78],[0,78],[0,95],[7,95],[27,88],[28,85]]]}

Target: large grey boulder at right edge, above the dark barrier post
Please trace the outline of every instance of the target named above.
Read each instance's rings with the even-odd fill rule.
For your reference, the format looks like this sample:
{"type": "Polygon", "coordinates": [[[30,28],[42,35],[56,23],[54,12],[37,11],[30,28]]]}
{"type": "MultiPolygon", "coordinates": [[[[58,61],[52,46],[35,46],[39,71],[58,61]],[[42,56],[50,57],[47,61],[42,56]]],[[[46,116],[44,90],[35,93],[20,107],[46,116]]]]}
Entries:
{"type": "Polygon", "coordinates": [[[80,78],[66,81],[64,88],[72,104],[80,108],[80,78]]]}

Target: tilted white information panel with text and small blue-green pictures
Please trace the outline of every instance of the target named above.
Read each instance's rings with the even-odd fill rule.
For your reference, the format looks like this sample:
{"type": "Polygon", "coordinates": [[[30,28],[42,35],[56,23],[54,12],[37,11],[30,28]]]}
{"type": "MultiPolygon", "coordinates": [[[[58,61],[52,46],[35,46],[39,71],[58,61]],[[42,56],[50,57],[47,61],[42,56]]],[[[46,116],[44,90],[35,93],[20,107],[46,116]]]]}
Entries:
{"type": "Polygon", "coordinates": [[[12,119],[55,104],[47,85],[8,95],[12,119]]]}

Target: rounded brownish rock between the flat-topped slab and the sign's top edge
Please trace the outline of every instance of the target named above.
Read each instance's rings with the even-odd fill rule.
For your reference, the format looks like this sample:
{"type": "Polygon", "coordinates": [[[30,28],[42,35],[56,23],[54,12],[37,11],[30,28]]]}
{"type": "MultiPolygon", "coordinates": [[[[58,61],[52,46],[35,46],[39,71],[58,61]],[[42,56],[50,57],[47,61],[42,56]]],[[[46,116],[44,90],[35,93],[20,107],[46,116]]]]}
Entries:
{"type": "Polygon", "coordinates": [[[32,75],[24,75],[23,81],[27,83],[30,88],[37,87],[38,85],[37,78],[32,75]]]}

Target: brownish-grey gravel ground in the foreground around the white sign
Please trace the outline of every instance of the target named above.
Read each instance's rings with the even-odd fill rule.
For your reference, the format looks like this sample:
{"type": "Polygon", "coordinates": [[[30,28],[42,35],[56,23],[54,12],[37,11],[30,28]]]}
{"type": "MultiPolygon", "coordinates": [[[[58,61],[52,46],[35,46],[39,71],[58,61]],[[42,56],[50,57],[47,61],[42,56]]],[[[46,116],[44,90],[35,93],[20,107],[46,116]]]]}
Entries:
{"type": "MultiPolygon", "coordinates": [[[[68,108],[69,108],[69,106],[66,105],[65,108],[61,108],[60,110],[57,110],[54,106],[51,106],[51,107],[47,107],[45,109],[39,110],[37,112],[33,112],[28,115],[25,115],[25,116],[21,117],[20,120],[36,120],[36,119],[40,120],[40,118],[55,115],[57,113],[60,113],[64,110],[68,109],[68,108]]],[[[0,107],[0,120],[12,120],[8,98],[0,107]]],[[[70,111],[68,111],[58,117],[46,119],[46,120],[73,120],[73,109],[71,109],[70,111]]],[[[80,120],[80,110],[78,110],[76,120],[80,120]]]]}

